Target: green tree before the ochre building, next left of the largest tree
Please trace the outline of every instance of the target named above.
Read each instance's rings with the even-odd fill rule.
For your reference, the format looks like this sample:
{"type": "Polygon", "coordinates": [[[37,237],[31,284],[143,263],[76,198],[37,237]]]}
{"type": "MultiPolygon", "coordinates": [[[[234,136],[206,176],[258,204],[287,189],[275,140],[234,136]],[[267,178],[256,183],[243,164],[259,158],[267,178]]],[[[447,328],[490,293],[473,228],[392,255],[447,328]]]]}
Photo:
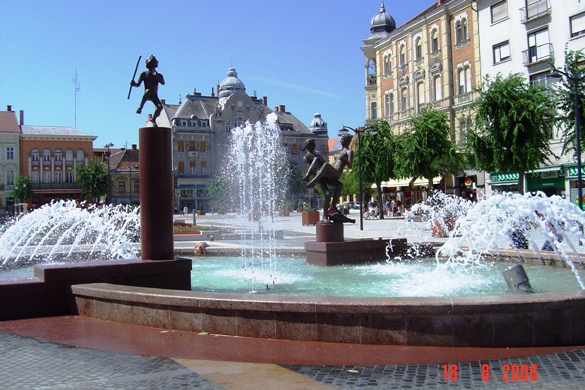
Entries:
{"type": "Polygon", "coordinates": [[[451,140],[447,112],[430,107],[422,109],[410,120],[410,128],[399,136],[396,178],[423,177],[428,180],[428,193],[433,178],[453,174],[463,164],[457,145],[451,140]]]}

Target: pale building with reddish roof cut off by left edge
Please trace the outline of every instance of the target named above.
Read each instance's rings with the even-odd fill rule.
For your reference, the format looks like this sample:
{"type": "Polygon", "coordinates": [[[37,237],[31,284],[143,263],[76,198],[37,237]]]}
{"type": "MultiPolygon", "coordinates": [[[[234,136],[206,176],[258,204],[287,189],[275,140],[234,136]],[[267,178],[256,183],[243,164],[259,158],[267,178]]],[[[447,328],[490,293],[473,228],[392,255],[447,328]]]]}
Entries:
{"type": "MultiPolygon", "coordinates": [[[[21,113],[22,115],[22,113],[21,113]]],[[[8,106],[0,111],[0,207],[11,210],[14,199],[10,193],[14,188],[20,168],[20,127],[16,113],[8,106]]]]}

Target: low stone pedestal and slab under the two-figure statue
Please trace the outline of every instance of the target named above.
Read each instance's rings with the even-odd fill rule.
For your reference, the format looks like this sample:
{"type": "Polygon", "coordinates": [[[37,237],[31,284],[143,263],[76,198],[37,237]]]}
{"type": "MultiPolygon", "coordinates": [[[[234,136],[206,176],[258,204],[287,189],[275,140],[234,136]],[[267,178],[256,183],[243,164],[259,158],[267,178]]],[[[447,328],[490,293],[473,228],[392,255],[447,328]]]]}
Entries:
{"type": "MultiPolygon", "coordinates": [[[[307,262],[319,266],[366,264],[386,259],[386,249],[391,239],[365,239],[344,241],[343,224],[318,223],[316,241],[305,242],[307,262]]],[[[389,254],[401,256],[408,250],[405,238],[392,239],[389,254]]]]}

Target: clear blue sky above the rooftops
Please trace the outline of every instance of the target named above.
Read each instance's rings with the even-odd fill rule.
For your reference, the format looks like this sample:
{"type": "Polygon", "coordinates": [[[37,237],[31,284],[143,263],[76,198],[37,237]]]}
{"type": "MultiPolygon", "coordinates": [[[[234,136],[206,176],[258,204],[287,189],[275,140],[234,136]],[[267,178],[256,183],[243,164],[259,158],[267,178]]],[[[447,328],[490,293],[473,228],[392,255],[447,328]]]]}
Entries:
{"type": "MultiPolygon", "coordinates": [[[[400,26],[435,1],[384,5],[400,26]]],[[[167,103],[194,90],[210,95],[233,66],[249,95],[285,105],[307,127],[320,113],[336,137],[365,123],[360,47],[380,4],[0,0],[0,110],[23,110],[25,125],[75,127],[97,136],[95,148],[131,147],[154,106],[136,114],[143,87],[127,99],[129,84],[138,57],[139,74],[153,54],[167,103]]]]}

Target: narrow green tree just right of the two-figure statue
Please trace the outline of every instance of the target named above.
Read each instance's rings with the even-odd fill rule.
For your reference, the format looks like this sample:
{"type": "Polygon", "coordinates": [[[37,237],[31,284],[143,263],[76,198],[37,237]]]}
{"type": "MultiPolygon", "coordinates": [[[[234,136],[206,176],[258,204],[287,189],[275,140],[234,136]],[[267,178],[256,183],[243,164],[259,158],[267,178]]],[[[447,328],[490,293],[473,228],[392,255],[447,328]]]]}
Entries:
{"type": "MultiPolygon", "coordinates": [[[[361,134],[361,138],[361,150],[355,153],[354,167],[356,169],[352,169],[352,174],[357,177],[357,167],[360,167],[362,186],[369,187],[375,184],[378,199],[382,201],[382,182],[396,176],[394,163],[396,137],[388,122],[378,120],[366,126],[366,131],[361,134]]],[[[360,199],[360,202],[363,201],[360,199]]],[[[384,213],[380,213],[380,219],[384,219],[384,213]]]]}

